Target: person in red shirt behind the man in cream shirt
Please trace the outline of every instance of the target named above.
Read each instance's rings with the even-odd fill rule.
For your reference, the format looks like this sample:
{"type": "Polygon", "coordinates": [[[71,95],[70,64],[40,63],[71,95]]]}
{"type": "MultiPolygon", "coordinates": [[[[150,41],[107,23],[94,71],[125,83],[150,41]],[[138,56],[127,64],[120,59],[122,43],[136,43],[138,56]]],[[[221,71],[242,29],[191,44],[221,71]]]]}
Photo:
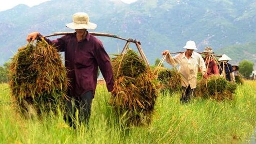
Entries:
{"type": "Polygon", "coordinates": [[[211,47],[204,48],[204,53],[206,53],[204,62],[206,63],[207,75],[219,75],[218,66],[213,58],[214,52],[211,47]]]}

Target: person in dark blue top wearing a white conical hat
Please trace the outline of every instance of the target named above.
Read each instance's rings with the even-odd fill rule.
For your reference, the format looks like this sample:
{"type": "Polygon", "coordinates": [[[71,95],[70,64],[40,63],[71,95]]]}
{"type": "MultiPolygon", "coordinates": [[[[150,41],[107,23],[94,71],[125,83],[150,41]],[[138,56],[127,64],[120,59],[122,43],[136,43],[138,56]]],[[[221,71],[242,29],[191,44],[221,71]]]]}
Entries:
{"type": "Polygon", "coordinates": [[[220,67],[219,67],[219,71],[220,71],[220,75],[223,75],[226,80],[231,81],[231,82],[235,82],[235,75],[233,72],[233,68],[232,65],[229,62],[229,60],[231,60],[230,57],[228,57],[228,55],[221,55],[221,57],[219,58],[220,61],[220,67]]]}

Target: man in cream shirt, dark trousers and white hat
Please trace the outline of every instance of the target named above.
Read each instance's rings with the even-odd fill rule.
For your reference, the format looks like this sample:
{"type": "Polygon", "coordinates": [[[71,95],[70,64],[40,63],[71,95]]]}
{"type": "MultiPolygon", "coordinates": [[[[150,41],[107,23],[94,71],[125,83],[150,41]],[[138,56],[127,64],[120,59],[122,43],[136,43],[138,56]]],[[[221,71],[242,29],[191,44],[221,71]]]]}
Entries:
{"type": "Polygon", "coordinates": [[[172,57],[168,50],[163,51],[162,55],[167,55],[167,63],[175,66],[179,64],[179,72],[181,73],[182,96],[181,103],[187,103],[191,100],[194,90],[197,87],[197,73],[200,67],[204,78],[207,78],[206,66],[200,54],[194,52],[197,50],[194,41],[187,41],[183,47],[186,49],[184,53],[180,53],[172,57]]]}

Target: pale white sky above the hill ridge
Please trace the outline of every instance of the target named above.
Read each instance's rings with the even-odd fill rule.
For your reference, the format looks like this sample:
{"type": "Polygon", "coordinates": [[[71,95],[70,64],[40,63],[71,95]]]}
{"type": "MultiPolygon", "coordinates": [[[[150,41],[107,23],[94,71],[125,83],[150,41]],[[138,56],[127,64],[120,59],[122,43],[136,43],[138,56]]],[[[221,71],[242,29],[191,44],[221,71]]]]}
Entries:
{"type": "MultiPolygon", "coordinates": [[[[34,6],[34,5],[39,5],[45,1],[50,1],[50,0],[1,0],[0,11],[11,9],[18,4],[26,4],[28,6],[34,6]]],[[[134,1],[137,1],[137,0],[120,0],[120,1],[123,1],[124,3],[133,3],[134,1]]]]}

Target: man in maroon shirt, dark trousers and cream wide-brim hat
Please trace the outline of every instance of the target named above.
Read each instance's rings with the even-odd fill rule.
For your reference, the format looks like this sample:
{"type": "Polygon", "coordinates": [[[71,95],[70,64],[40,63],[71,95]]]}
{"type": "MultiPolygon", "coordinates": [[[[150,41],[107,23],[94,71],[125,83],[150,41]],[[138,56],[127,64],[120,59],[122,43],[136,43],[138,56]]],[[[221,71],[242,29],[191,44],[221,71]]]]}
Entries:
{"type": "MultiPolygon", "coordinates": [[[[49,44],[54,44],[58,51],[65,52],[65,67],[68,69],[67,76],[70,80],[65,120],[70,126],[76,127],[74,125],[76,109],[79,110],[79,123],[89,121],[98,67],[105,78],[108,91],[113,90],[114,79],[110,58],[102,42],[87,31],[97,27],[96,24],[89,22],[88,14],[75,13],[73,22],[66,24],[66,27],[75,29],[75,32],[55,40],[46,38],[45,40],[49,44]]],[[[32,32],[27,36],[27,41],[34,41],[41,36],[39,32],[32,32]]]]}

